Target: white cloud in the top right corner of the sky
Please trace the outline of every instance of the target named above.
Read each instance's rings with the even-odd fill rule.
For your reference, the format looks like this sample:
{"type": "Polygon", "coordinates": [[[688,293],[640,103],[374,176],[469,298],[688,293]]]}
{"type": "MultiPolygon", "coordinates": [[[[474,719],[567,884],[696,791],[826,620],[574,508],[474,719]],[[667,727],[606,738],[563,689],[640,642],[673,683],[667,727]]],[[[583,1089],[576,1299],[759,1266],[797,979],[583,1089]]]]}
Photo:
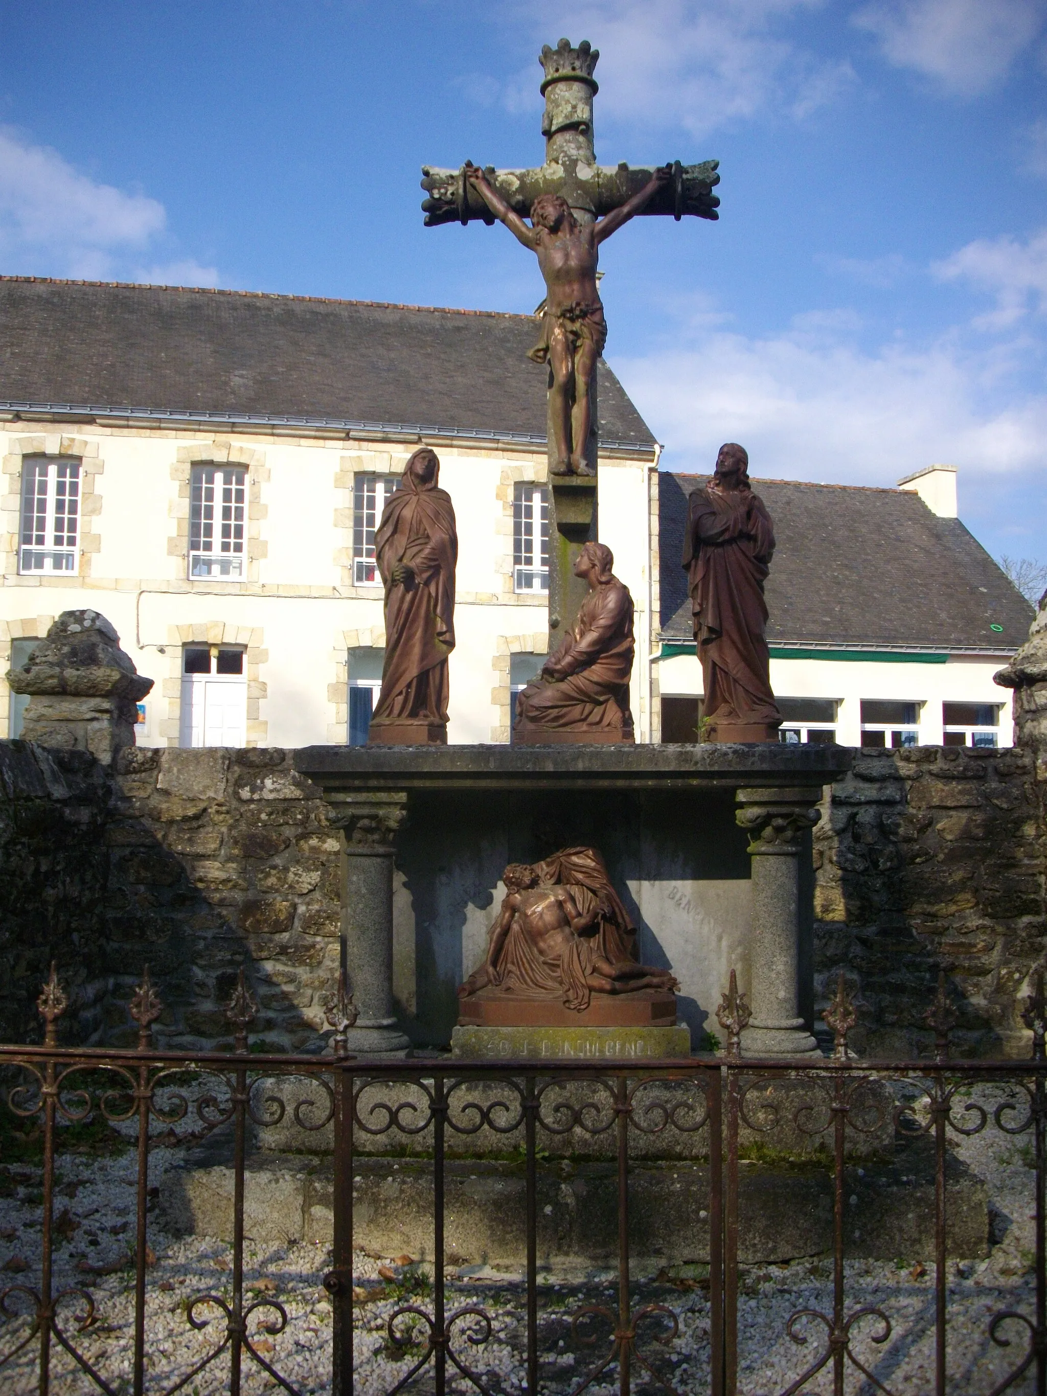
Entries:
{"type": "Polygon", "coordinates": [[[977,96],[1007,77],[1043,18],[1041,0],[874,0],[854,24],[877,36],[895,67],[977,96]]]}

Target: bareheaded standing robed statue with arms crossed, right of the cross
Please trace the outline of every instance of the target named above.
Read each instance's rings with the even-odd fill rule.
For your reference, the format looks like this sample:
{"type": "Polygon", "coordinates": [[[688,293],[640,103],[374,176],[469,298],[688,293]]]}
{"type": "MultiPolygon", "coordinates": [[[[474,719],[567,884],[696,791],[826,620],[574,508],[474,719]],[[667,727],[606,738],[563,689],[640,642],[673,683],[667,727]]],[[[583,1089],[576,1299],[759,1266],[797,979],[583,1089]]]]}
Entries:
{"type": "Polygon", "coordinates": [[[730,441],[712,480],[691,494],[684,539],[705,741],[778,741],[764,600],[773,551],[771,515],[748,482],[748,454],[730,441]]]}

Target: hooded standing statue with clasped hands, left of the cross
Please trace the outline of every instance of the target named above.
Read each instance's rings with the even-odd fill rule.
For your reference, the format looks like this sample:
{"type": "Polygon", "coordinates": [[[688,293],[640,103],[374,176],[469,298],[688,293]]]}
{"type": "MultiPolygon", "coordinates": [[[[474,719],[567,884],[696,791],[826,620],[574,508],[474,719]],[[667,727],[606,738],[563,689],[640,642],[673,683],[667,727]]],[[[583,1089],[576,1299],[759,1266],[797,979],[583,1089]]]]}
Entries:
{"type": "Polygon", "coordinates": [[[385,585],[385,664],[369,743],[447,744],[447,659],[455,648],[458,533],[440,459],[408,461],[374,535],[385,585]]]}

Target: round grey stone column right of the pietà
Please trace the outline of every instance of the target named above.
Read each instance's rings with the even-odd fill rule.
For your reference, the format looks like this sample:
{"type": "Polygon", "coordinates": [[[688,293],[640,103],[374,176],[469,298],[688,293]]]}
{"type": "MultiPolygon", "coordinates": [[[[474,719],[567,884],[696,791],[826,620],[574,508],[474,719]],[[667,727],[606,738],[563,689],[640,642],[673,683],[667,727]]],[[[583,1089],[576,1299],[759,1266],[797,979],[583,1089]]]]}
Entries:
{"type": "Polygon", "coordinates": [[[744,789],[736,819],[750,836],[752,937],[743,1057],[804,1057],[818,1050],[800,1005],[800,854],[819,819],[808,789],[744,789]]]}

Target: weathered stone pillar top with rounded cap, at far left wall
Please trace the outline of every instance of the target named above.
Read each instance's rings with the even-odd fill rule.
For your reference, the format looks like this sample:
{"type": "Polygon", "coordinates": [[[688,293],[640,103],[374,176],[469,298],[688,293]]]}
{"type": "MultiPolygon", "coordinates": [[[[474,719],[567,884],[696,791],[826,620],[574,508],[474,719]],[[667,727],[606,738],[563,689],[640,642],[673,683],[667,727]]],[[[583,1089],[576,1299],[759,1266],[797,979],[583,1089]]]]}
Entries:
{"type": "Polygon", "coordinates": [[[25,664],[8,670],[7,683],[29,695],[25,741],[89,751],[106,766],[134,745],[135,704],[152,688],[95,610],[63,611],[25,664]]]}

